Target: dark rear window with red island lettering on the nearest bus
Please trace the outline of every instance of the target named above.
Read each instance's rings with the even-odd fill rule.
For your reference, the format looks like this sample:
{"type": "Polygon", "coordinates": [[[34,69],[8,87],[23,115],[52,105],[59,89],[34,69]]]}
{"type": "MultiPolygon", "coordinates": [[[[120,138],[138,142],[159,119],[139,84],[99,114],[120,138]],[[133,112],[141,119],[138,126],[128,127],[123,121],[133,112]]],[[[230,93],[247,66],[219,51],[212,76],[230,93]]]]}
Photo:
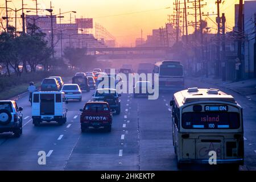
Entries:
{"type": "Polygon", "coordinates": [[[184,129],[238,129],[240,127],[239,113],[183,113],[182,127],[184,129]]]}

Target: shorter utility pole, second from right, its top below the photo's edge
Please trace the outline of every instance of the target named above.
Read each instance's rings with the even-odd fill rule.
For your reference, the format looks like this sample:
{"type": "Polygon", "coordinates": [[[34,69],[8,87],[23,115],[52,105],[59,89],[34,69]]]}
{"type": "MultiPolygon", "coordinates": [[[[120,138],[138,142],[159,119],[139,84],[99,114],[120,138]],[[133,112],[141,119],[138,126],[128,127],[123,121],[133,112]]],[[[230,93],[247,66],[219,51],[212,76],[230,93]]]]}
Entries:
{"type": "Polygon", "coordinates": [[[226,81],[226,45],[225,45],[225,13],[222,13],[221,16],[221,22],[222,22],[222,81],[226,81]]]}

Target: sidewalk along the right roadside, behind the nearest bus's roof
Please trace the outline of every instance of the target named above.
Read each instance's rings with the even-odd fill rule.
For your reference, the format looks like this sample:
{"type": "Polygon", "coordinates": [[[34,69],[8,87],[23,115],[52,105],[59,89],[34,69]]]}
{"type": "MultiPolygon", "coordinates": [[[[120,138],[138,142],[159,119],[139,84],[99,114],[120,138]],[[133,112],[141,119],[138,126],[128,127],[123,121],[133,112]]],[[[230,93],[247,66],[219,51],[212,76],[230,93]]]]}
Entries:
{"type": "Polygon", "coordinates": [[[230,89],[246,96],[249,100],[256,101],[256,78],[237,82],[222,81],[221,78],[214,79],[213,77],[195,77],[195,80],[230,89]]]}

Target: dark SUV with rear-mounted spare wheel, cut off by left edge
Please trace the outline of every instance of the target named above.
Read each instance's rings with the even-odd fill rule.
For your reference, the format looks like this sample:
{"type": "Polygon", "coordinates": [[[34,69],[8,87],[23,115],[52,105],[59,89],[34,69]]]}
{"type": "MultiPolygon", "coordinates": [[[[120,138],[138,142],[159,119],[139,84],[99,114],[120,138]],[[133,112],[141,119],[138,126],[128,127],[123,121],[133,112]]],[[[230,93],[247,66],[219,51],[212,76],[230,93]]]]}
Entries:
{"type": "Polygon", "coordinates": [[[0,101],[0,133],[13,132],[15,137],[22,134],[22,110],[15,101],[0,101]]]}

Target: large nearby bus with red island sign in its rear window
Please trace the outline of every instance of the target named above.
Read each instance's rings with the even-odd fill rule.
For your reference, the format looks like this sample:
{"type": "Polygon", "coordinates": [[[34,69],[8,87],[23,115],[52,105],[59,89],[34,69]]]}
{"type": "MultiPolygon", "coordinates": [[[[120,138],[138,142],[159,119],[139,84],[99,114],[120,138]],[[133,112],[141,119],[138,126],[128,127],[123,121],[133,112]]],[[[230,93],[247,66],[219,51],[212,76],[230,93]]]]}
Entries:
{"type": "Polygon", "coordinates": [[[174,94],[172,139],[177,167],[184,163],[216,164],[236,169],[244,162],[242,107],[218,89],[188,88],[174,94]]]}

